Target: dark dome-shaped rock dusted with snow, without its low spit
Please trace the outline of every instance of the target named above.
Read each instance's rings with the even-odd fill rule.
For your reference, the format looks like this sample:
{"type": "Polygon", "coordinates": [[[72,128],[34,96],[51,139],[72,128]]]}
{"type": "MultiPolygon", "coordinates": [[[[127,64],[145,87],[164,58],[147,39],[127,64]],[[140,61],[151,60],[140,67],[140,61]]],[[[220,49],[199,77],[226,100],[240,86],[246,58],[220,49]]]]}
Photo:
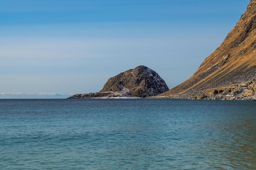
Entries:
{"type": "Polygon", "coordinates": [[[128,89],[132,96],[148,97],[168,91],[164,80],[146,66],[137,66],[108,79],[100,92],[128,89]]]}

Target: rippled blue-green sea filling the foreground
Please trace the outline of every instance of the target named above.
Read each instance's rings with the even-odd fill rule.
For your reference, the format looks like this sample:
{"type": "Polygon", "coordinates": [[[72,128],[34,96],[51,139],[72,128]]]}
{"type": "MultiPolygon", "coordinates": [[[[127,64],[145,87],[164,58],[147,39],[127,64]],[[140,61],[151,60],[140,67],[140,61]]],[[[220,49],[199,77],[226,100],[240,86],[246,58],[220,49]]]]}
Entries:
{"type": "Polygon", "coordinates": [[[0,170],[256,170],[256,102],[0,99],[0,170]]]}

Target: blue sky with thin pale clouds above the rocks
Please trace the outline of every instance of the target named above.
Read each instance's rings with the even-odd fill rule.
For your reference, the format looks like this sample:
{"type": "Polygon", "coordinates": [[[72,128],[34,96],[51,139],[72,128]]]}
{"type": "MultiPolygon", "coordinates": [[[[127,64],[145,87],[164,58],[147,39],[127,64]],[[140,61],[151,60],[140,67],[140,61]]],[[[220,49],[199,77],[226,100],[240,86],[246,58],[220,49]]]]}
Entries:
{"type": "Polygon", "coordinates": [[[249,0],[0,0],[0,99],[100,91],[139,65],[171,89],[222,43],[249,0]]]}

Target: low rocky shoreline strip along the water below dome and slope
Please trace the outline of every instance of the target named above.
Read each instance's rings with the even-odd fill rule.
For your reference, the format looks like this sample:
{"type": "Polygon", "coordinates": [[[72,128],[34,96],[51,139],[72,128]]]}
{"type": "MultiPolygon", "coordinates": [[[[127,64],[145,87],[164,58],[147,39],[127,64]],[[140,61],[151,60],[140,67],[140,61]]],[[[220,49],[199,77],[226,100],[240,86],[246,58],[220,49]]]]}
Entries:
{"type": "Polygon", "coordinates": [[[186,99],[186,100],[256,100],[256,80],[232,86],[204,90],[199,95],[157,95],[151,97],[133,97],[128,91],[108,91],[88,94],[77,94],[68,99],[186,99]]]}

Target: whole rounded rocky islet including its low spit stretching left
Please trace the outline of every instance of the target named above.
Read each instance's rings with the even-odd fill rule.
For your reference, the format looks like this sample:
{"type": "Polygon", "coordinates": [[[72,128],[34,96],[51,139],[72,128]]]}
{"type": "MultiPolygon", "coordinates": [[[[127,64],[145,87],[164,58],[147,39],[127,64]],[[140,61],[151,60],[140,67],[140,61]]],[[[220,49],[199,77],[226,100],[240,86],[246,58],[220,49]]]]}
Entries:
{"type": "Polygon", "coordinates": [[[69,98],[150,97],[168,90],[155,71],[146,66],[137,66],[108,79],[98,93],[77,94],[69,98]]]}

